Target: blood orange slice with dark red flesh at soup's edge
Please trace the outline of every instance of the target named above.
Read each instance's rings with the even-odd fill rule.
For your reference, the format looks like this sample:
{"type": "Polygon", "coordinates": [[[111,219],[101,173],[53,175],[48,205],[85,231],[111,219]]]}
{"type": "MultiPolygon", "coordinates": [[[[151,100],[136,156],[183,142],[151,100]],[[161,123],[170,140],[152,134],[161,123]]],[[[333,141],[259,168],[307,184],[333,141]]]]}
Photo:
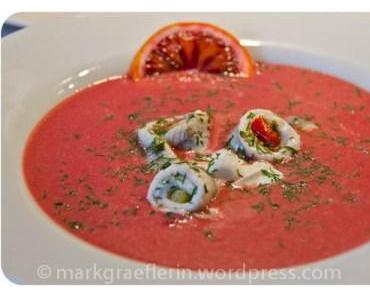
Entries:
{"type": "Polygon", "coordinates": [[[225,30],[206,23],[175,23],[153,34],[136,53],[128,75],[145,76],[195,69],[248,77],[254,62],[248,50],[225,30]]]}

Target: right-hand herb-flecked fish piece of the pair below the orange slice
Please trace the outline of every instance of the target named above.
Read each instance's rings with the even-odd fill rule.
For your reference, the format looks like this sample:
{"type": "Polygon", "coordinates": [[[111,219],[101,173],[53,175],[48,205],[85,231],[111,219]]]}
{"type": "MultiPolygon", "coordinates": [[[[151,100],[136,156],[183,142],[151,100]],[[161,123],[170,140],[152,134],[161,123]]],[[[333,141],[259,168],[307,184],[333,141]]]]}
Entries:
{"type": "Polygon", "coordinates": [[[208,113],[196,110],[176,119],[165,134],[168,143],[183,150],[204,152],[209,138],[208,113]]]}

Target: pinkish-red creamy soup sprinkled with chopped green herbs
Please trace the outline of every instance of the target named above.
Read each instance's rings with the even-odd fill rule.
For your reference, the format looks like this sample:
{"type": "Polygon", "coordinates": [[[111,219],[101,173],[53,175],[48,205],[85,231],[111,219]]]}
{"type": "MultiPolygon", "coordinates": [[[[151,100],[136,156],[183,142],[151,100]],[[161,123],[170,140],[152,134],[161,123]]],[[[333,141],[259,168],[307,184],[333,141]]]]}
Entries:
{"type": "Polygon", "coordinates": [[[174,72],[107,80],[44,116],[25,148],[24,176],[57,224],[123,257],[191,269],[300,265],[370,239],[369,103],[370,94],[355,85],[284,65],[260,65],[248,79],[174,72]],[[188,216],[148,203],[155,172],[137,143],[138,128],[205,110],[214,151],[254,108],[318,127],[297,130],[300,151],[274,164],[284,183],[225,184],[202,212],[188,216]]]}

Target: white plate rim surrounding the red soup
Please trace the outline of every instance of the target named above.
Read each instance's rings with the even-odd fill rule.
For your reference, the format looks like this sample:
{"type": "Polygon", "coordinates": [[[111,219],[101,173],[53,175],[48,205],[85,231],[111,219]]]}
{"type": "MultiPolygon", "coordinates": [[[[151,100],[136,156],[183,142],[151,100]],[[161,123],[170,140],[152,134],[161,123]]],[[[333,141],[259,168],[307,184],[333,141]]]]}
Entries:
{"type": "MultiPolygon", "coordinates": [[[[170,275],[159,279],[152,273],[152,266],[112,255],[68,234],[30,197],[21,168],[26,137],[46,111],[76,89],[125,72],[135,50],[154,30],[179,20],[225,27],[250,45],[258,59],[321,70],[370,89],[370,31],[365,30],[370,28],[368,14],[73,14],[4,38],[2,268],[10,280],[69,283],[73,280],[60,279],[60,274],[57,279],[57,269],[85,271],[95,267],[146,271],[136,279],[115,277],[115,283],[205,283],[170,275]],[[39,268],[42,264],[51,270],[39,268]]],[[[265,276],[254,283],[368,283],[369,255],[370,244],[366,244],[296,270],[339,268],[341,281],[276,280],[265,276]]],[[[73,283],[110,282],[104,277],[79,280],[74,276],[77,279],[73,283]]],[[[213,278],[209,282],[230,280],[213,278]]],[[[235,275],[231,282],[248,283],[235,275]]]]}

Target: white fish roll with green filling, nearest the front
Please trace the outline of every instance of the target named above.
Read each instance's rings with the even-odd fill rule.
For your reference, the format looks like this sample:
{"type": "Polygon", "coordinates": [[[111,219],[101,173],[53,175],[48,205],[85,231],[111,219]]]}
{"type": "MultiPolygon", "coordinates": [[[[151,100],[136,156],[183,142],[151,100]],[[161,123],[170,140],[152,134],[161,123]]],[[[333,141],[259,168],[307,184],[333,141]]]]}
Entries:
{"type": "Polygon", "coordinates": [[[162,212],[185,214],[201,209],[217,194],[214,179],[187,163],[172,164],[157,173],[147,199],[162,212]]]}

